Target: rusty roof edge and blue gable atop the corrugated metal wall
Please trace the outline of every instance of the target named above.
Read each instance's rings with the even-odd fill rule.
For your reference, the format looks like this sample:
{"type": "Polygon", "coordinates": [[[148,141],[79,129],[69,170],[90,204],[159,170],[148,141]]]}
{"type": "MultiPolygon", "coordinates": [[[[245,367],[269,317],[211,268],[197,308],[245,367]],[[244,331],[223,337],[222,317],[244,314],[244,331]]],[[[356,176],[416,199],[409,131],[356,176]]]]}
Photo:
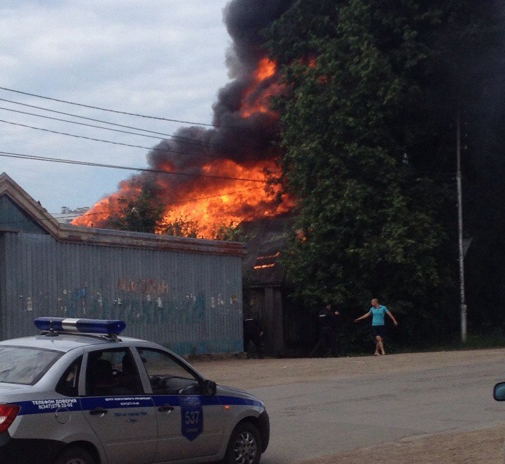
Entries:
{"type": "Polygon", "coordinates": [[[0,232],[50,234],[58,242],[243,256],[245,244],[60,224],[6,173],[0,175],[0,232]]]}

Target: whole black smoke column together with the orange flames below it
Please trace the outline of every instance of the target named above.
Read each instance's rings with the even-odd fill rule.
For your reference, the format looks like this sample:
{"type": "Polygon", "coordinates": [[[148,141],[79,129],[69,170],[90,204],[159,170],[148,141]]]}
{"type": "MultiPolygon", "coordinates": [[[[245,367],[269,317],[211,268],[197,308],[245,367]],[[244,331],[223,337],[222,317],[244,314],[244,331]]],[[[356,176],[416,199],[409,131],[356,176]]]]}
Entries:
{"type": "Polygon", "coordinates": [[[279,171],[278,115],[269,98],[282,92],[275,63],[262,48],[262,31],[284,13],[294,0],[232,0],[223,16],[232,46],[226,65],[230,82],[218,91],[213,104],[213,127],[181,127],[147,154],[149,168],[120,182],[120,191],[102,199],[75,225],[109,227],[111,215],[120,213],[121,199],[135,197],[139,189],[156,186],[165,208],[165,220],[191,213],[204,237],[212,227],[291,211],[294,206],[278,187],[266,191],[266,173],[279,171]],[[218,178],[228,177],[225,178],[218,178]],[[251,179],[254,181],[243,179],[251,179]],[[261,189],[261,190],[260,190],[261,189]],[[252,191],[252,192],[251,192],[252,191]],[[215,199],[212,204],[208,199],[215,199]],[[201,204],[194,201],[201,201],[201,204]],[[192,203],[188,203],[192,202],[192,203]],[[187,206],[185,206],[187,205],[187,206]]]}

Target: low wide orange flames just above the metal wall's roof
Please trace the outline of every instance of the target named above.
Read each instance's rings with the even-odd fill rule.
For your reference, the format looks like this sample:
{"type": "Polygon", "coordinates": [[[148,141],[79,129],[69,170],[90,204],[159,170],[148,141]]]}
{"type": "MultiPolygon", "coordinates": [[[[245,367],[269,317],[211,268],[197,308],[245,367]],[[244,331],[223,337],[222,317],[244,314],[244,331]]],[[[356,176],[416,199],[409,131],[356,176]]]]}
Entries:
{"type": "MultiPolygon", "coordinates": [[[[280,174],[274,161],[246,167],[221,159],[205,165],[203,170],[206,175],[234,177],[237,180],[219,179],[219,182],[216,182],[212,177],[200,177],[199,182],[185,184],[176,192],[170,187],[169,177],[166,180],[158,180],[158,188],[161,192],[167,192],[167,196],[170,194],[171,200],[166,204],[157,232],[163,230],[163,224],[187,218],[197,222],[199,237],[211,239],[215,237],[220,226],[235,226],[244,220],[272,217],[294,208],[294,202],[289,196],[282,195],[280,201],[277,198],[280,186],[273,185],[270,189],[265,189],[265,171],[270,176],[280,174]]],[[[138,194],[137,190],[132,188],[130,183],[122,182],[120,192],[96,203],[85,215],[75,219],[73,224],[88,227],[103,224],[111,213],[118,213],[118,199],[135,196],[138,194]]]]}

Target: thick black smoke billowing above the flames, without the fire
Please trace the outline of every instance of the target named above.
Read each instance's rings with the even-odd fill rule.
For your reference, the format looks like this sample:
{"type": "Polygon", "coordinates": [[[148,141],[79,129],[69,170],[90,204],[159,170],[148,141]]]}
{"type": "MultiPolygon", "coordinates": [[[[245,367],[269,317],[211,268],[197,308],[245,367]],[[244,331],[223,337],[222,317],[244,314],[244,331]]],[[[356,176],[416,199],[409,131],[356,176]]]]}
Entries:
{"type": "MultiPolygon", "coordinates": [[[[224,21],[227,31],[233,39],[232,47],[227,51],[226,65],[231,82],[218,91],[217,101],[213,105],[212,128],[201,126],[182,127],[175,137],[163,140],[148,154],[149,166],[154,169],[171,169],[194,174],[195,177],[171,176],[169,184],[160,194],[170,203],[175,192],[193,184],[216,182],[215,179],[198,177],[201,169],[216,158],[226,158],[243,165],[251,165],[276,156],[273,146],[277,129],[275,117],[270,113],[253,113],[247,118],[241,114],[244,92],[254,84],[254,70],[261,58],[266,56],[262,49],[264,38],[262,30],[278,19],[289,8],[293,0],[232,0],[225,7],[224,21]],[[189,143],[191,142],[191,143],[189,143]]],[[[261,83],[268,87],[278,81],[274,75],[261,83]]],[[[262,88],[254,89],[249,99],[254,99],[262,88]]],[[[160,175],[144,173],[132,177],[135,184],[144,184],[153,177],[161,180],[160,175]]]]}

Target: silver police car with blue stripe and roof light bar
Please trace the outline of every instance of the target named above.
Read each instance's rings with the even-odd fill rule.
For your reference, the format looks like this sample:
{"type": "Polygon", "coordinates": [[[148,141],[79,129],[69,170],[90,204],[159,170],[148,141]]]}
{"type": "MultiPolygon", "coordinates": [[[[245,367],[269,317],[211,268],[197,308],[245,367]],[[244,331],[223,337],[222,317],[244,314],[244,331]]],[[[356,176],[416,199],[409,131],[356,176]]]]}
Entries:
{"type": "Polygon", "coordinates": [[[37,318],[0,341],[2,464],[258,464],[264,404],[120,320],[37,318]]]}

